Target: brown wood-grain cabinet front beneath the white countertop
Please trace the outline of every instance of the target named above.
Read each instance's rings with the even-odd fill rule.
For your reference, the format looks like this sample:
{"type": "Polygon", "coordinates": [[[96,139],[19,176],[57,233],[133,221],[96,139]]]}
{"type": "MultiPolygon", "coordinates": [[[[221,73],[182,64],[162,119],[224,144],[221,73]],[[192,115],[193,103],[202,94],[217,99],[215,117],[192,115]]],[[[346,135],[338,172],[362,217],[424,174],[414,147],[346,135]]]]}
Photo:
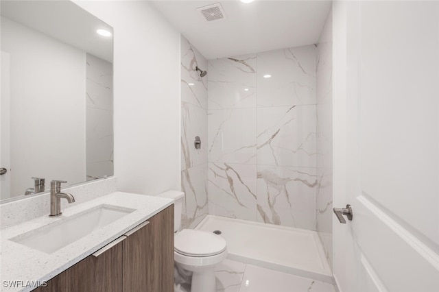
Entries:
{"type": "Polygon", "coordinates": [[[34,291],[173,292],[174,205],[147,221],[117,245],[84,258],[34,291]]]}

